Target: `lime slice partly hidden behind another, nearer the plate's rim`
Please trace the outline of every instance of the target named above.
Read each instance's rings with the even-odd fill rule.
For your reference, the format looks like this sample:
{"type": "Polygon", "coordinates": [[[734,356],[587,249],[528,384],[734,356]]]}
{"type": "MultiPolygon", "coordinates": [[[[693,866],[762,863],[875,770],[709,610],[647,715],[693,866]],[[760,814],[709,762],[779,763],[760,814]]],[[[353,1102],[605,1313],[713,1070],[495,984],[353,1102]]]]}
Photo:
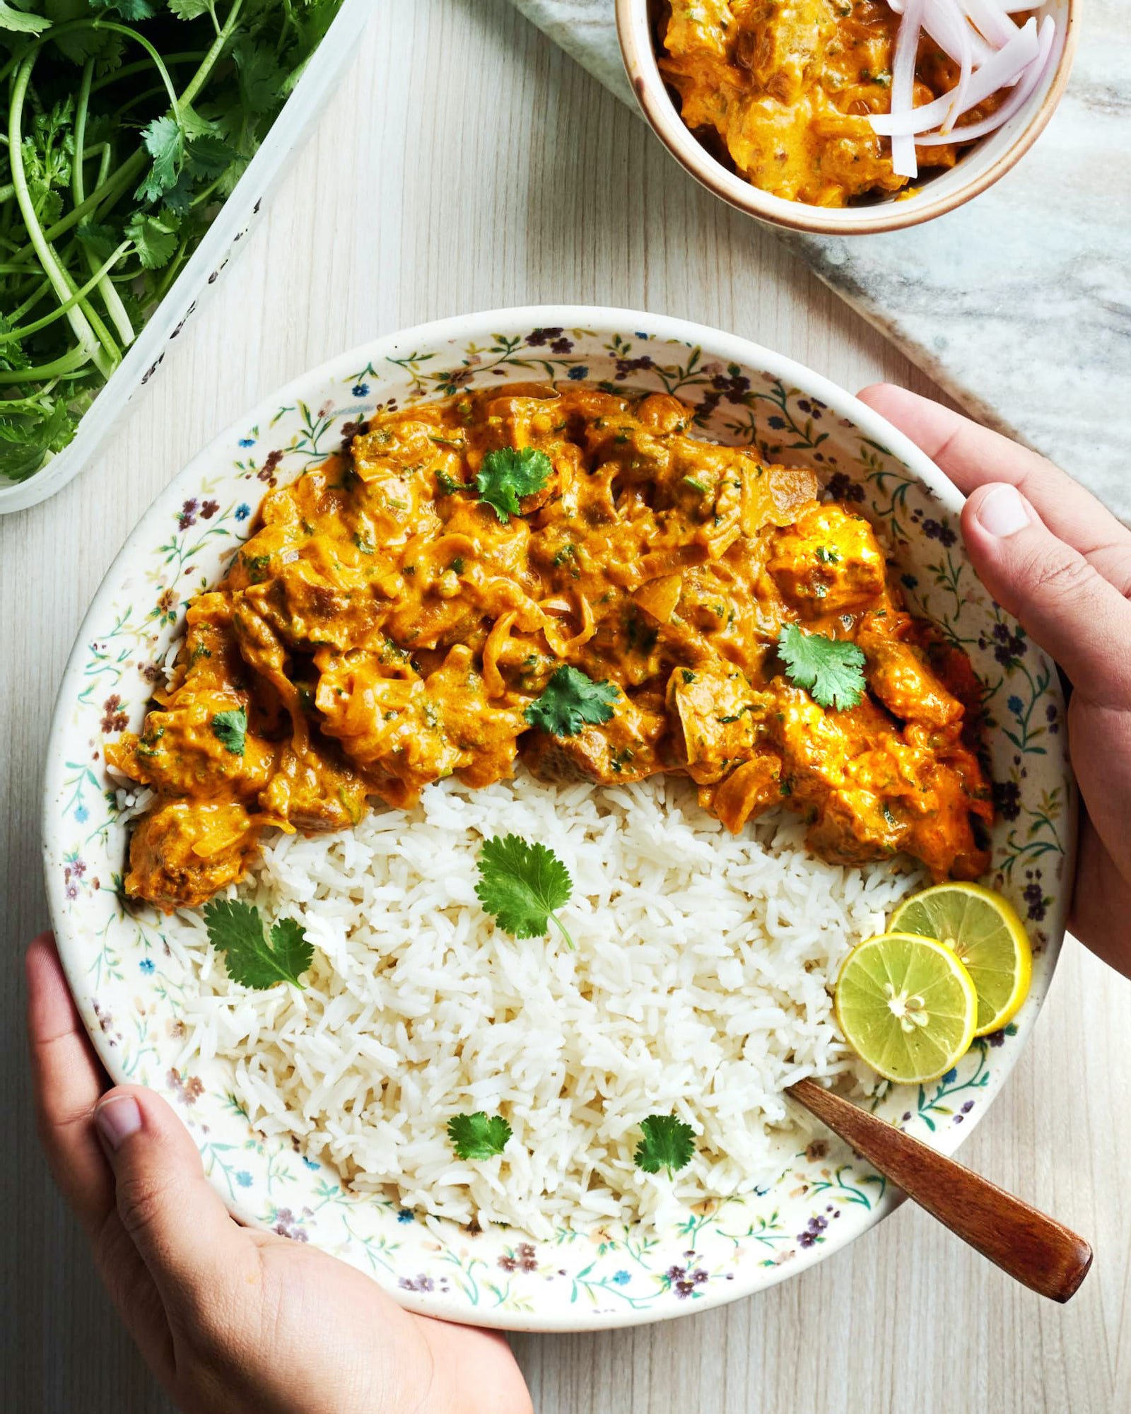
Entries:
{"type": "Polygon", "coordinates": [[[905,899],[892,932],[922,933],[953,947],[978,994],[975,1036],[1001,1031],[1029,994],[1033,954],[1012,906],[980,884],[937,884],[905,899]]]}

